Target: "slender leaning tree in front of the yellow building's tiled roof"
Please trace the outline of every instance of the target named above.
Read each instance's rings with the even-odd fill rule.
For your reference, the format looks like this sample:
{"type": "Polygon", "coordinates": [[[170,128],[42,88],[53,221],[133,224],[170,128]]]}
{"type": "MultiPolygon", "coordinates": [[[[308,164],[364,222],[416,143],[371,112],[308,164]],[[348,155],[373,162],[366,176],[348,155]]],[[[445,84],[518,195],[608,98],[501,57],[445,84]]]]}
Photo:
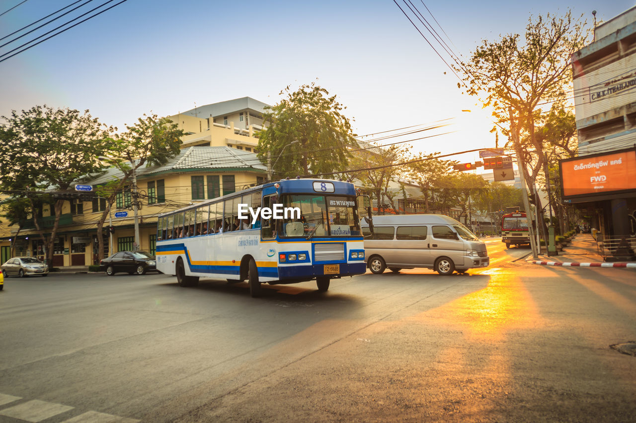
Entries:
{"type": "MultiPolygon", "coordinates": [[[[98,196],[106,198],[106,210],[97,221],[98,260],[104,258],[104,238],[102,230],[116,195],[126,185],[132,183],[132,201],[138,204],[137,169],[144,165],[159,166],[179,154],[183,130],[167,117],[158,118],[155,114],[137,119],[133,126],[127,126],[124,133],[114,137],[113,150],[104,158],[111,166],[121,172],[121,177],[113,178],[97,188],[98,196]]],[[[135,241],[138,234],[135,234],[135,241]]]]}

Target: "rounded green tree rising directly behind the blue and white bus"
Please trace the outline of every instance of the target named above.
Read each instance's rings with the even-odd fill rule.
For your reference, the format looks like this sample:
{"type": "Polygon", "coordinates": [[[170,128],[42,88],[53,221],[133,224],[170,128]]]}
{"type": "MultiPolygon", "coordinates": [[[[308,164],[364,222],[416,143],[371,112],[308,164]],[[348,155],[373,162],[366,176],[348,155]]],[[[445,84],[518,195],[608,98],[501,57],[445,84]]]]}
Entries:
{"type": "Polygon", "coordinates": [[[345,168],[357,142],[345,107],[314,83],[294,92],[289,86],[280,91],[287,97],[265,107],[263,120],[270,123],[258,134],[258,155],[276,164],[283,176],[320,175],[345,168]]]}

